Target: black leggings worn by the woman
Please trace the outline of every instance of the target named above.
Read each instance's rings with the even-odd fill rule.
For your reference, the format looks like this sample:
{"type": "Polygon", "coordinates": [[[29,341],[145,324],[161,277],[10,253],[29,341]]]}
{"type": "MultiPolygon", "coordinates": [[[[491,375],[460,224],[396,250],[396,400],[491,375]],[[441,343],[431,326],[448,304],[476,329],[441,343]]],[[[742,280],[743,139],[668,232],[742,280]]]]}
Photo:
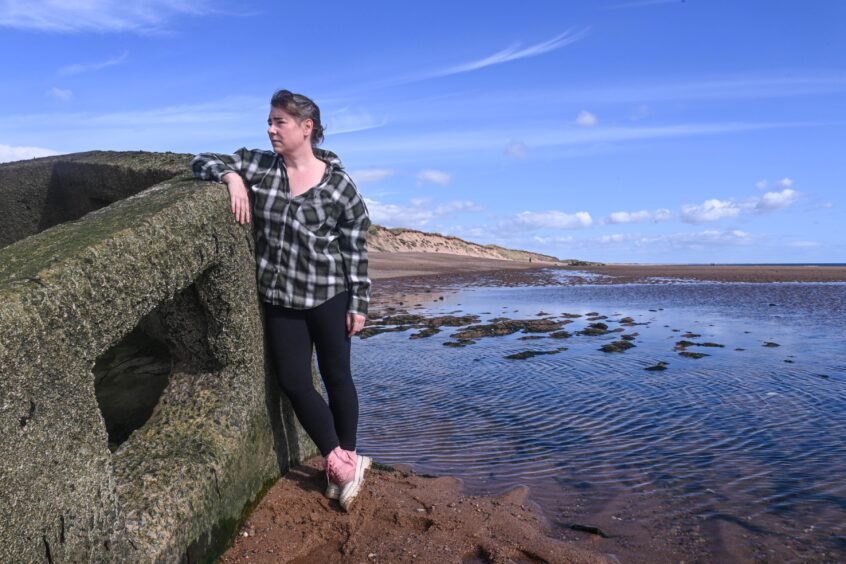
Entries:
{"type": "Polygon", "coordinates": [[[323,456],[339,445],[355,450],[358,394],[350,372],[347,302],[347,292],[311,309],[264,302],[270,356],[279,387],[323,456]],[[312,345],[329,405],[312,383],[312,345]]]}

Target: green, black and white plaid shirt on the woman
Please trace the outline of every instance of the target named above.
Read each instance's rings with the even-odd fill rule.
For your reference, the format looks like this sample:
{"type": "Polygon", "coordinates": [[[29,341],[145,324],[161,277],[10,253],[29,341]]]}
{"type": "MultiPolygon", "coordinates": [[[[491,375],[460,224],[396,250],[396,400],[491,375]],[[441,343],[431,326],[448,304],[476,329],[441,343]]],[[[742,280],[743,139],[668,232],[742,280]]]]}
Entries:
{"type": "Polygon", "coordinates": [[[296,197],[291,197],[285,162],[273,151],[201,153],[191,168],[203,180],[220,182],[227,172],[244,178],[264,301],[308,309],[347,290],[348,311],[367,315],[367,207],[337,155],[317,148],[314,155],[326,162],[326,173],[320,184],[296,197]]]}

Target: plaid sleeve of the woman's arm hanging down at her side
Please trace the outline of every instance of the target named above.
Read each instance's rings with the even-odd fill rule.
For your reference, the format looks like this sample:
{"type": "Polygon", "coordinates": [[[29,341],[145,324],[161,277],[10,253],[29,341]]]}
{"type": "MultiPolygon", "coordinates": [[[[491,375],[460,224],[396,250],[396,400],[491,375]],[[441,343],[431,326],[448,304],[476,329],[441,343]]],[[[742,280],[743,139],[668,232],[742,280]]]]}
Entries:
{"type": "Polygon", "coordinates": [[[370,278],[367,276],[367,231],[370,228],[370,217],[364,198],[352,181],[350,188],[353,194],[338,221],[341,234],[338,242],[350,293],[347,310],[366,316],[370,303],[370,278]]]}

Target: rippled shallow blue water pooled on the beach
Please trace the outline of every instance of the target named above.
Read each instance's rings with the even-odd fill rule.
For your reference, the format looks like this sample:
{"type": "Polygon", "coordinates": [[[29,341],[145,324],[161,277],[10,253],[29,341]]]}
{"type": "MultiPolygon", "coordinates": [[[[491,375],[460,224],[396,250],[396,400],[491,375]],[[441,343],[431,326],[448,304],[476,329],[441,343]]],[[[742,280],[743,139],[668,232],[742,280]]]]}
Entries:
{"type": "Polygon", "coordinates": [[[846,558],[846,284],[651,282],[464,288],[422,310],[630,316],[623,353],[599,350],[620,333],[576,335],[584,317],[569,339],[356,340],[359,449],[474,493],[528,485],[559,536],[599,526],[626,561],[846,558]],[[725,346],[689,359],[682,339],[725,346]]]}

